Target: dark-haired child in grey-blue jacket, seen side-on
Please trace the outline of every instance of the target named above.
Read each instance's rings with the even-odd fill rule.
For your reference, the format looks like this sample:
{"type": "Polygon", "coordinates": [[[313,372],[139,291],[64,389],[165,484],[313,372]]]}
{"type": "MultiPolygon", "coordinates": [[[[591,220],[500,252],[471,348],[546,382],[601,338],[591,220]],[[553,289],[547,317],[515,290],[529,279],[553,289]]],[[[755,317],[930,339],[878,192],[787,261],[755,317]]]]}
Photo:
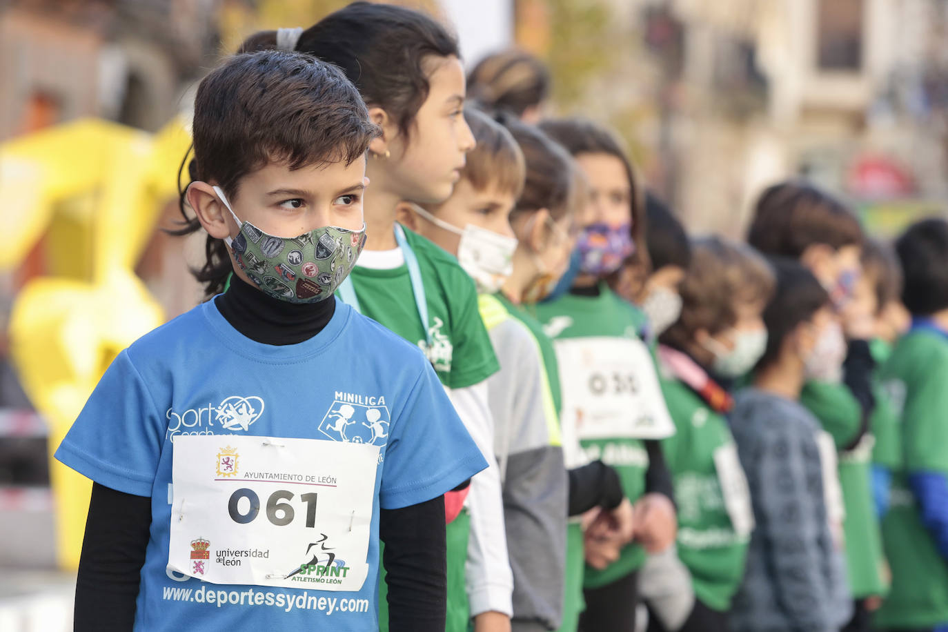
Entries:
{"type": "Polygon", "coordinates": [[[731,628],[829,632],[851,614],[825,496],[836,467],[821,459],[820,425],[798,399],[814,363],[832,361],[824,350],[839,324],[808,270],[774,265],[777,288],[763,315],[767,350],[731,414],[757,522],[731,628]]]}

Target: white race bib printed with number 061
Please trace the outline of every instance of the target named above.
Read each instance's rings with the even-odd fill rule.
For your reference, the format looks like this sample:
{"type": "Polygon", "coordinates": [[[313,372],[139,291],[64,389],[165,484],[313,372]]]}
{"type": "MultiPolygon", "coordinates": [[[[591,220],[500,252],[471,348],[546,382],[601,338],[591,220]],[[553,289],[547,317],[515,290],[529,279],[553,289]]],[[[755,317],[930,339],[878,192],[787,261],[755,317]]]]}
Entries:
{"type": "Polygon", "coordinates": [[[209,435],[173,449],[169,569],[213,584],[362,587],[377,446],[209,435]]]}

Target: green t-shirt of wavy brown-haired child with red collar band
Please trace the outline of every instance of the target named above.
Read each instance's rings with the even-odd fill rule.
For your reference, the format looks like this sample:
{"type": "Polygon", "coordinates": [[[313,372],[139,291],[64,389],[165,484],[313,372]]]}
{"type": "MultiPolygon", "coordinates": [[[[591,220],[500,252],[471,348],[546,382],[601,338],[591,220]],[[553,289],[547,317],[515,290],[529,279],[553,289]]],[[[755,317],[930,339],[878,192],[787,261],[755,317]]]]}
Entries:
{"type": "Polygon", "coordinates": [[[675,422],[675,434],[663,440],[662,449],[675,482],[678,556],[691,573],[695,596],[709,608],[726,611],[744,576],[753,524],[747,522],[747,516],[753,515],[747,481],[724,418],[682,382],[669,379],[662,386],[675,422]],[[730,471],[721,474],[720,468],[730,471]],[[737,489],[722,485],[722,477],[730,480],[733,476],[742,479],[743,485],[737,489]],[[735,507],[738,504],[747,513],[732,519],[724,490],[742,494],[742,499],[731,499],[732,511],[741,511],[735,507]]]}

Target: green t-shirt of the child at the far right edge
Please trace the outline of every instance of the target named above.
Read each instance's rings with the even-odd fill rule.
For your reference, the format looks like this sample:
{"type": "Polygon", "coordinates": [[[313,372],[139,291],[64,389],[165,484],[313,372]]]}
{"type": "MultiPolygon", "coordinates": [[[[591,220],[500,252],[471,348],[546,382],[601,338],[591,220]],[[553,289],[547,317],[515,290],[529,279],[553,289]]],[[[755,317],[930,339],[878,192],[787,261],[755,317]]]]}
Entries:
{"type": "Polygon", "coordinates": [[[906,334],[879,373],[902,406],[902,463],[893,472],[889,511],[883,518],[892,588],[875,623],[924,628],[948,623],[948,563],[921,522],[907,484],[914,472],[948,475],[948,339],[919,329],[906,334]]]}

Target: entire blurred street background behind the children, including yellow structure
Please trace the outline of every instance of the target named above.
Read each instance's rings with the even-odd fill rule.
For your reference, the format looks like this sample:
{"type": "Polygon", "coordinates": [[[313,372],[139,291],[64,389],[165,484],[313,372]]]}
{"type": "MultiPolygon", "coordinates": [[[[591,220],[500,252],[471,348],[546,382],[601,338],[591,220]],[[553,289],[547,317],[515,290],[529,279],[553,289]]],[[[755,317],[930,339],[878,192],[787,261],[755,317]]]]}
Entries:
{"type": "MultiPolygon", "coordinates": [[[[71,627],[85,483],[50,468],[101,371],[200,298],[171,237],[193,89],[338,0],[0,0],[0,630],[71,627]],[[55,493],[52,490],[56,490],[55,493]]],[[[468,67],[549,64],[693,234],[804,174],[889,235],[946,200],[948,0],[428,0],[468,67]]]]}

